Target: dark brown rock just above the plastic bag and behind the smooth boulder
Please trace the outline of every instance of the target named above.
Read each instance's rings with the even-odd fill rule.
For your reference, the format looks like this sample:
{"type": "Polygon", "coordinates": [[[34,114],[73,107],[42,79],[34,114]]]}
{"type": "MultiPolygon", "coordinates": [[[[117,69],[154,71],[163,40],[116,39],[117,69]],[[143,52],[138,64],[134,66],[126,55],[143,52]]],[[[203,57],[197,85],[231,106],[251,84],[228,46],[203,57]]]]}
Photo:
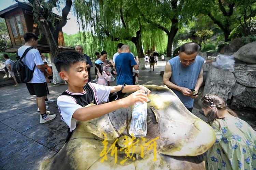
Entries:
{"type": "Polygon", "coordinates": [[[221,54],[233,54],[244,45],[245,38],[236,38],[221,49],[221,54]]]}

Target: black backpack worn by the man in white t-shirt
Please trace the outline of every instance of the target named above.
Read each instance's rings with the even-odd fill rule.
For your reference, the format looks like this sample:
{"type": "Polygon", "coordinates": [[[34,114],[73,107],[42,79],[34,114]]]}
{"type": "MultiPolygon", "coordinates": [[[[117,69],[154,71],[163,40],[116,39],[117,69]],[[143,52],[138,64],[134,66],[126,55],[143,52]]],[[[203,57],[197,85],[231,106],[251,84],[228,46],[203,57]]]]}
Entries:
{"type": "Polygon", "coordinates": [[[23,53],[22,57],[18,55],[18,50],[17,50],[17,61],[13,64],[12,71],[14,72],[15,78],[18,83],[27,83],[29,82],[34,73],[35,65],[33,70],[30,70],[28,66],[22,61],[22,59],[26,56],[27,52],[31,50],[33,47],[29,47],[25,50],[23,53]]]}

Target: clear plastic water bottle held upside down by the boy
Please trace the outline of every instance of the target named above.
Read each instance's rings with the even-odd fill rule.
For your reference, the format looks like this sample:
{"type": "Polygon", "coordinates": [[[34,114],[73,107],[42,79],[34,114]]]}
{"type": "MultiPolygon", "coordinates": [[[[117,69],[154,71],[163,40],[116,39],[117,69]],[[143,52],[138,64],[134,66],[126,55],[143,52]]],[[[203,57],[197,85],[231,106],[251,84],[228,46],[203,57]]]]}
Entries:
{"type": "Polygon", "coordinates": [[[129,134],[133,137],[143,137],[147,134],[147,102],[136,102],[132,110],[129,134]]]}

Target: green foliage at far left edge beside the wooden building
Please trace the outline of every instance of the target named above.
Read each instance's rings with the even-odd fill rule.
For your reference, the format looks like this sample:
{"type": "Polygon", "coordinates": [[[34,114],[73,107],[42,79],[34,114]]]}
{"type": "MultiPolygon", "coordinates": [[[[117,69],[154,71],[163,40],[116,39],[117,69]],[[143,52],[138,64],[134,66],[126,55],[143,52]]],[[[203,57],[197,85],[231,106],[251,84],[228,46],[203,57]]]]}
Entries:
{"type": "Polygon", "coordinates": [[[0,52],[11,47],[11,40],[7,31],[5,20],[0,18],[0,52]]]}

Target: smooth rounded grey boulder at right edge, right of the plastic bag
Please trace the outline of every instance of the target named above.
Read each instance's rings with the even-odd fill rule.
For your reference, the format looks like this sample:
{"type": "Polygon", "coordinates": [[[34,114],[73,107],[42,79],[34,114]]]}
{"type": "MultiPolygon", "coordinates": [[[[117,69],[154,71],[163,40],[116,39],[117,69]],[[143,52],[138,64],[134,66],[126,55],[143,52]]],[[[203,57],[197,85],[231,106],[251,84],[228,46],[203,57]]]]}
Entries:
{"type": "Polygon", "coordinates": [[[244,45],[233,56],[245,63],[256,64],[256,41],[244,45]]]}

